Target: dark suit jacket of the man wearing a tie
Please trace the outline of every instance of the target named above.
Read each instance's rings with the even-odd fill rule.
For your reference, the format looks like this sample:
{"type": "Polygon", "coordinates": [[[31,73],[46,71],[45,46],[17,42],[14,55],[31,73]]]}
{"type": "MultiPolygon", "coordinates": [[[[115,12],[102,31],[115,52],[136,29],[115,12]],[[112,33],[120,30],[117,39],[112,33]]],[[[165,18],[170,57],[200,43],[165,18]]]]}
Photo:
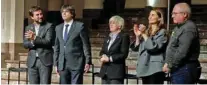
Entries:
{"type": "Polygon", "coordinates": [[[66,64],[71,70],[83,70],[85,64],[91,63],[88,30],[84,28],[83,23],[73,21],[68,33],[69,37],[64,41],[63,27],[64,23],[56,26],[55,65],[58,66],[58,70],[63,70],[66,64]]]}

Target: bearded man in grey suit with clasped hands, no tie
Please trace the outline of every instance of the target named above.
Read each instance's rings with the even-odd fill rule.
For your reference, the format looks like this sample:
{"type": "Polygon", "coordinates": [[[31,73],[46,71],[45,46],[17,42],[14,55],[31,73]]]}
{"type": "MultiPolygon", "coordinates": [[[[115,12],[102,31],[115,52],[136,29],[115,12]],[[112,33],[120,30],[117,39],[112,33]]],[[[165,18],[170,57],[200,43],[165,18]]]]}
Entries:
{"type": "Polygon", "coordinates": [[[53,66],[53,26],[43,20],[42,9],[33,6],[29,15],[34,21],[25,29],[24,47],[29,49],[27,66],[31,84],[50,84],[53,66]]]}

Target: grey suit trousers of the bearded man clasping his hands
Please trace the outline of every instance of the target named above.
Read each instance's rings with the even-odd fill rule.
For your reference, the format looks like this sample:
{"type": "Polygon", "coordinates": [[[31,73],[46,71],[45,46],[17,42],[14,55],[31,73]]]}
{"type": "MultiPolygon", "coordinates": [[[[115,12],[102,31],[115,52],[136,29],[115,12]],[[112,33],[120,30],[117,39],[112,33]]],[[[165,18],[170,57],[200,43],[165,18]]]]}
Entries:
{"type": "Polygon", "coordinates": [[[36,59],[35,65],[28,68],[30,84],[50,84],[52,75],[52,66],[45,66],[39,58],[36,59]]]}

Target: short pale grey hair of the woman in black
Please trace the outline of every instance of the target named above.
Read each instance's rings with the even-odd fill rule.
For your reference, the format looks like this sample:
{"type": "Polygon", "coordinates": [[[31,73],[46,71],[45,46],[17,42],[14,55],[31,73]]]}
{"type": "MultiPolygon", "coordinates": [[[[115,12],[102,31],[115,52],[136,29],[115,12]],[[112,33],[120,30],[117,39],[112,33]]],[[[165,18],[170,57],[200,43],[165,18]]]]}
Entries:
{"type": "Polygon", "coordinates": [[[110,19],[109,19],[109,23],[110,22],[114,22],[116,25],[119,25],[122,29],[124,29],[124,19],[118,15],[115,15],[115,16],[112,16],[110,19]]]}

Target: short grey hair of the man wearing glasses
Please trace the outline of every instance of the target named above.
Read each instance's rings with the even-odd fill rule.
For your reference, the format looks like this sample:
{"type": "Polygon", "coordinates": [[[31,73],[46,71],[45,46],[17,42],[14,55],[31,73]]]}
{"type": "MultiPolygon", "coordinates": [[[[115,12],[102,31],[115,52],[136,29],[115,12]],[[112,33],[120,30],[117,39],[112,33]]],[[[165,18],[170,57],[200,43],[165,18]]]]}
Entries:
{"type": "Polygon", "coordinates": [[[191,16],[191,8],[187,3],[178,3],[175,6],[178,6],[181,8],[182,12],[188,14],[188,18],[191,16]]]}

